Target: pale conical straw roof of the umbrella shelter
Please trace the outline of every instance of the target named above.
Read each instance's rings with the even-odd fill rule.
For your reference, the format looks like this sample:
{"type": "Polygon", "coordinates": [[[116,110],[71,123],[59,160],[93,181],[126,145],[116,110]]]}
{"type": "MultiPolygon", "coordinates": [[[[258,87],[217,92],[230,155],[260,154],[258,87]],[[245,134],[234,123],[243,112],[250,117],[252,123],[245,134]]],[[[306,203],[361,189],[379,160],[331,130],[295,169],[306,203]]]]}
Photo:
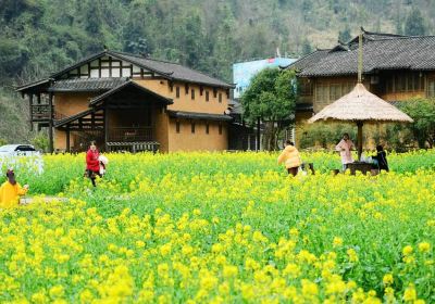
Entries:
{"type": "Polygon", "coordinates": [[[350,93],[325,106],[308,122],[316,121],[413,122],[396,106],[369,92],[362,84],[357,84],[350,93]]]}

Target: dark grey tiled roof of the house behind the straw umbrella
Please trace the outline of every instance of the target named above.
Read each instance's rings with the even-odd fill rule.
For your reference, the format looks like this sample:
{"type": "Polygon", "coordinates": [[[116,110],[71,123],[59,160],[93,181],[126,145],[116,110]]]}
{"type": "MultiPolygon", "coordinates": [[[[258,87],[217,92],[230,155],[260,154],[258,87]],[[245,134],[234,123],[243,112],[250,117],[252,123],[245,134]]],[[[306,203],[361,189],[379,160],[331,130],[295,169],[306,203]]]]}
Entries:
{"type": "MultiPolygon", "coordinates": [[[[380,69],[435,69],[435,36],[397,36],[365,31],[363,73],[380,69]]],[[[331,51],[316,51],[291,64],[301,77],[355,75],[358,73],[358,39],[331,51]]]]}

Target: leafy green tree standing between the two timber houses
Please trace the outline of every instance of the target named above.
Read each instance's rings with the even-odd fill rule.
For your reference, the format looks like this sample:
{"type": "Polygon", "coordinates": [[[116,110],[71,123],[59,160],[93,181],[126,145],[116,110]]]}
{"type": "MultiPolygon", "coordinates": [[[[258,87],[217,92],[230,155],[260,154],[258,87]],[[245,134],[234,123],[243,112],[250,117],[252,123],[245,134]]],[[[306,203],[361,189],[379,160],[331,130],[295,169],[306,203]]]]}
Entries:
{"type": "Polygon", "coordinates": [[[294,71],[265,68],[257,74],[241,97],[244,118],[265,124],[264,147],[276,150],[279,132],[295,117],[296,74],[294,71]]]}

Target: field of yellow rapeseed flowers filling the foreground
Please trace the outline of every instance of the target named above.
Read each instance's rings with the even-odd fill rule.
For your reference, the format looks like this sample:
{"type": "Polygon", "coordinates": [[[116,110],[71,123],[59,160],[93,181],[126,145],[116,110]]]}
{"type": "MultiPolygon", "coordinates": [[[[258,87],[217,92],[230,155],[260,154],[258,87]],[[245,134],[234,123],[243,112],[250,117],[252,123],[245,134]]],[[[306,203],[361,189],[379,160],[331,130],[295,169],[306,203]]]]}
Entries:
{"type": "Polygon", "coordinates": [[[296,178],[268,153],[108,157],[96,189],[83,154],[13,164],[70,201],[0,211],[0,302],[435,302],[435,151],[375,177],[328,153],[296,178]]]}

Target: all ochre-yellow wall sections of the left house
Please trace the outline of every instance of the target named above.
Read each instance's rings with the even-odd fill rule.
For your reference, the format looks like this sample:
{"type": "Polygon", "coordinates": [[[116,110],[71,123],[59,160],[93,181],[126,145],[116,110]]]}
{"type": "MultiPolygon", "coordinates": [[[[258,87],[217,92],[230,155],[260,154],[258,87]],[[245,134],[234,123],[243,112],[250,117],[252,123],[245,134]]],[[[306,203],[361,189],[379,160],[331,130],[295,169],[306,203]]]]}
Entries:
{"type": "MultiPolygon", "coordinates": [[[[212,87],[203,86],[202,96],[200,94],[199,85],[189,85],[186,94],[184,83],[174,83],[171,91],[170,84],[165,79],[135,79],[141,86],[167,98],[173,99],[174,104],[169,105],[167,110],[186,111],[196,113],[213,113],[223,114],[228,107],[228,99],[226,90],[216,89],[216,97],[213,94],[212,87]],[[176,97],[176,87],[179,87],[179,98],[176,97]],[[195,90],[195,99],[191,99],[191,90],[195,90]],[[206,101],[206,91],[209,91],[209,101],[206,101]],[[219,94],[222,96],[222,102],[219,102],[219,94]]],[[[74,93],[74,94],[57,94],[55,112],[71,116],[79,112],[88,110],[89,99],[94,94],[74,93]]],[[[112,113],[113,114],[113,113],[112,113]]],[[[117,117],[109,113],[109,124],[113,125],[117,122],[117,117]]],[[[222,151],[227,149],[227,125],[223,123],[222,135],[219,135],[219,123],[210,122],[209,134],[206,134],[206,123],[196,121],[196,131],[191,134],[191,122],[181,121],[181,134],[175,130],[175,119],[171,119],[165,111],[161,111],[160,106],[153,110],[152,123],[156,130],[156,140],[160,142],[160,151],[222,151]]],[[[73,137],[71,138],[73,147],[73,137]]],[[[64,131],[54,130],[54,149],[66,149],[66,136],[64,131]]]]}

